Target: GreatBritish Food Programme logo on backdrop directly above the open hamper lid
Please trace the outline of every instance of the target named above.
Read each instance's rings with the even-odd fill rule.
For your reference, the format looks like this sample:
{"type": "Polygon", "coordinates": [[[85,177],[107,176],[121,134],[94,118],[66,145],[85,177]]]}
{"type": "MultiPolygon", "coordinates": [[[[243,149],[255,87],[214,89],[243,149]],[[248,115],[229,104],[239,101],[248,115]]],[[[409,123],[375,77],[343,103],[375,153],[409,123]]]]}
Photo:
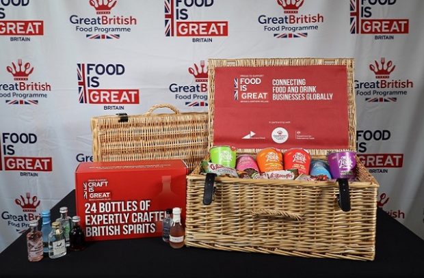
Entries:
{"type": "Polygon", "coordinates": [[[306,10],[304,0],[276,0],[274,5],[279,14],[261,14],[258,23],[263,31],[272,33],[274,38],[307,38],[311,31],[317,31],[324,16],[319,13],[303,12],[306,10]]]}

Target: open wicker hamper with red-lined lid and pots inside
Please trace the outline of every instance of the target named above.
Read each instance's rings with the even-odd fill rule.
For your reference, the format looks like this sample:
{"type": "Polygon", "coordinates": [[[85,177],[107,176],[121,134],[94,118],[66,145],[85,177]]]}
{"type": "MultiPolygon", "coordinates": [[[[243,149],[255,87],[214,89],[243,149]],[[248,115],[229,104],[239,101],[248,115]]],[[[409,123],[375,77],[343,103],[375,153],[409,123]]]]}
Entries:
{"type": "Polygon", "coordinates": [[[209,59],[208,68],[209,148],[235,145],[261,178],[213,179],[200,167],[187,176],[185,245],[373,260],[375,178],[358,158],[349,182],[311,169],[312,159],[331,169],[328,153],[356,152],[353,59],[209,59]]]}

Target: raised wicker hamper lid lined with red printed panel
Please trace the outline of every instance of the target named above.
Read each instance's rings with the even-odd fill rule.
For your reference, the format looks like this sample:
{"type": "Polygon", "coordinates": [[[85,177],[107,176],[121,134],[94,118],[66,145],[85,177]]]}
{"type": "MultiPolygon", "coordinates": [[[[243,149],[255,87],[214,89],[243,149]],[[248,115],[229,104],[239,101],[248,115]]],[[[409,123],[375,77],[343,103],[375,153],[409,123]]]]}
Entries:
{"type": "Polygon", "coordinates": [[[209,59],[209,148],[356,150],[353,59],[209,59]]]}

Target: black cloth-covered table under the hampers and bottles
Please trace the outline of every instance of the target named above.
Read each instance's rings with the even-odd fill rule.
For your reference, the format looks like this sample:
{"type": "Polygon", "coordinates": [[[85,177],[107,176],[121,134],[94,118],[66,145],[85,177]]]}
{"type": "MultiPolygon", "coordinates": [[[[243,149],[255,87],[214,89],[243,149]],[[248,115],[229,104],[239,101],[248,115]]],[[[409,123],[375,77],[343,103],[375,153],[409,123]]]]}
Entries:
{"type": "MultiPolygon", "coordinates": [[[[60,206],[75,215],[75,191],[51,219],[60,206]]],[[[372,262],[172,249],[161,238],[90,242],[84,251],[28,262],[24,234],[0,253],[0,277],[424,277],[424,240],[380,209],[376,232],[372,262]]]]}

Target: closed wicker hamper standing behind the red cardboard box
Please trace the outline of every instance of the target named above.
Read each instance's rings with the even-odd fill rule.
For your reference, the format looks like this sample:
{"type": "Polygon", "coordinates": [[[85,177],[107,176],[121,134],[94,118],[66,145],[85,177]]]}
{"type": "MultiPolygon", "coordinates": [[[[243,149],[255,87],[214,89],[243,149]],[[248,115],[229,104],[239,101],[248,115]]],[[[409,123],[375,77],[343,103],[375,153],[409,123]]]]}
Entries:
{"type": "Polygon", "coordinates": [[[179,158],[192,171],[207,154],[207,116],[155,105],[143,115],[92,117],[94,161],[179,158]],[[159,108],[174,113],[154,114],[159,108]]]}

